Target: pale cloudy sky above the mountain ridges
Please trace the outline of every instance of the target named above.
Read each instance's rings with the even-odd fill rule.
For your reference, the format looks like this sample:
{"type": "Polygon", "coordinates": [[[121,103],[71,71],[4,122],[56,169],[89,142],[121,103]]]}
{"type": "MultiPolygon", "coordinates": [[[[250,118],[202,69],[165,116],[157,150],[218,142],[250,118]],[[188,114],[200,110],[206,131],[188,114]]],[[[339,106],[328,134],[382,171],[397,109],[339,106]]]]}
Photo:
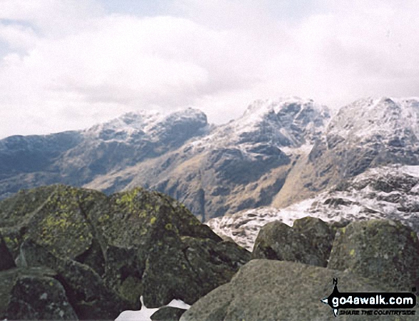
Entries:
{"type": "Polygon", "coordinates": [[[0,0],[0,138],[126,111],[419,96],[417,0],[0,0]]]}

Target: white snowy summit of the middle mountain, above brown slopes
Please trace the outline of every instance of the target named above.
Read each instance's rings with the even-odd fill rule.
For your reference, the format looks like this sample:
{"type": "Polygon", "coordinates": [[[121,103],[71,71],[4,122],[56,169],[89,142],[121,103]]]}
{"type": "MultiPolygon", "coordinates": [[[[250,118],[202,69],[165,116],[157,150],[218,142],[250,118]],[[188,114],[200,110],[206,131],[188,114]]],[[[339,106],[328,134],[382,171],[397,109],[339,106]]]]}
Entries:
{"type": "Polygon", "coordinates": [[[266,143],[277,148],[298,148],[312,144],[313,136],[323,131],[329,118],[329,109],[312,99],[291,97],[253,101],[243,116],[215,126],[211,133],[189,143],[188,147],[194,151],[238,148],[247,154],[250,146],[254,147],[258,138],[263,137],[268,139],[266,143]],[[250,145],[248,141],[251,141],[250,145]]]}

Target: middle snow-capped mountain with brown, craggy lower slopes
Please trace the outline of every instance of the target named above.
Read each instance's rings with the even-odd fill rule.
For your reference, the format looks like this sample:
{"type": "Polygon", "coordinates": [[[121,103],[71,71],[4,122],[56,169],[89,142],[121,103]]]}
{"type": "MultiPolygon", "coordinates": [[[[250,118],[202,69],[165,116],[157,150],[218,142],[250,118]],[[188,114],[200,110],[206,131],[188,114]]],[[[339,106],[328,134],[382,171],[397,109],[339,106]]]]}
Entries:
{"type": "Polygon", "coordinates": [[[138,166],[115,175],[131,179],[128,188],[145,183],[181,200],[202,220],[269,205],[329,117],[311,100],[255,101],[241,118],[148,163],[153,171],[138,166]]]}

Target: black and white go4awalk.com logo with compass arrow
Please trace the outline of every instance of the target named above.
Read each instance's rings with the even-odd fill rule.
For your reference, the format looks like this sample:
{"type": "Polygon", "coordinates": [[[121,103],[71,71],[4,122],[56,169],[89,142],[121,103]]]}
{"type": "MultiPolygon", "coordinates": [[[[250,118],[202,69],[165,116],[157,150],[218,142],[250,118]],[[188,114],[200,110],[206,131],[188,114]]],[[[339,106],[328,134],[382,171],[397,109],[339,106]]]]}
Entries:
{"type": "MultiPolygon", "coordinates": [[[[321,302],[330,305],[333,315],[415,315],[416,295],[410,292],[339,292],[333,279],[333,292],[321,302]],[[344,311],[340,309],[358,309],[344,311]],[[361,309],[361,310],[359,310],[361,309]]],[[[415,292],[413,288],[413,292],[415,292]]]]}

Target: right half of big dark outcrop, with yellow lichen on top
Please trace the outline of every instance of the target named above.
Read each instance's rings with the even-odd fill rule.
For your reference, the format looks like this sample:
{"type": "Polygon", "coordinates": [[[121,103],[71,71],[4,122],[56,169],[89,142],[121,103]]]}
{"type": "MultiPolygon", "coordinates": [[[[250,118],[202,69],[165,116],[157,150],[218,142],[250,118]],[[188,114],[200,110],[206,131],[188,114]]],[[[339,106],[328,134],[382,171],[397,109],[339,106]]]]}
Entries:
{"type": "Polygon", "coordinates": [[[131,300],[142,294],[147,307],[173,299],[192,304],[228,282],[250,260],[248,251],[235,244],[222,245],[211,228],[161,193],[141,188],[116,193],[109,198],[107,212],[93,215],[111,245],[105,279],[119,292],[130,293],[131,300]],[[126,251],[130,254],[123,255],[126,251]],[[191,262],[190,252],[198,253],[198,260],[191,262]],[[222,259],[213,263],[210,253],[222,259]]]}

